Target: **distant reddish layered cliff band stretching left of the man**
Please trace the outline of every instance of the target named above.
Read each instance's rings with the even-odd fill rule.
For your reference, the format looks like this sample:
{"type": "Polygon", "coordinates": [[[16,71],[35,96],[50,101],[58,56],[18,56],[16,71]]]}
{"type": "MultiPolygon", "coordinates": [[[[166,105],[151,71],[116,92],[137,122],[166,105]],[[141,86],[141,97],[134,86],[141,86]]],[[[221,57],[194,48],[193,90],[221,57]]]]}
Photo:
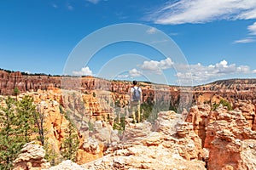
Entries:
{"type": "Polygon", "coordinates": [[[51,77],[46,75],[22,75],[20,71],[7,72],[0,70],[0,94],[14,94],[14,88],[20,93],[26,91],[46,90],[49,88],[86,90],[101,89],[112,92],[128,92],[129,82],[110,82],[94,77],[51,77]]]}

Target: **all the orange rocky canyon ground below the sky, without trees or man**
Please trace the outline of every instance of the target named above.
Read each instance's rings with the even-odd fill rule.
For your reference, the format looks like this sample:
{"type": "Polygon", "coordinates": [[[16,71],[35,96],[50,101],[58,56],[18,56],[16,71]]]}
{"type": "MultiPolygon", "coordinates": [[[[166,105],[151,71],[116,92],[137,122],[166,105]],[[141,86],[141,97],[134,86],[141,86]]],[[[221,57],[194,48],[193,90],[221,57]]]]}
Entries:
{"type": "Polygon", "coordinates": [[[46,148],[31,143],[21,150],[15,169],[256,168],[255,79],[194,88],[149,82],[140,86],[143,101],[164,110],[157,110],[154,122],[131,123],[127,107],[131,82],[0,71],[1,99],[14,94],[15,88],[20,90],[17,99],[32,96],[44,115],[54,164],[60,163],[47,162],[46,148]],[[117,127],[120,117],[125,130],[117,127]],[[76,162],[61,156],[71,122],[79,140],[76,162]]]}

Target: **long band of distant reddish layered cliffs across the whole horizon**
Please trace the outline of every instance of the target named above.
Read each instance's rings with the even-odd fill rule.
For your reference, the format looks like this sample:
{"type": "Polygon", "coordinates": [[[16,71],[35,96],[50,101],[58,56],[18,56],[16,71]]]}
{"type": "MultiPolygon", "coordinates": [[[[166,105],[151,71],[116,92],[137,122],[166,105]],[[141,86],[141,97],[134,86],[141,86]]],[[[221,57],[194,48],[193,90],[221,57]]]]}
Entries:
{"type": "MultiPolygon", "coordinates": [[[[225,80],[212,82],[195,88],[177,87],[167,85],[154,85],[149,82],[140,82],[143,89],[143,101],[152,100],[159,105],[172,105],[189,108],[195,103],[214,103],[219,98],[235,103],[237,99],[247,99],[256,104],[256,79],[225,80]],[[166,102],[166,103],[165,103],[166,102]]],[[[14,94],[14,89],[19,88],[20,93],[26,91],[46,90],[61,88],[79,90],[85,94],[93,94],[93,90],[103,90],[113,93],[114,101],[120,105],[127,105],[129,99],[127,93],[131,88],[131,82],[108,81],[95,77],[50,77],[22,75],[19,71],[0,71],[0,94],[14,94]]]]}

